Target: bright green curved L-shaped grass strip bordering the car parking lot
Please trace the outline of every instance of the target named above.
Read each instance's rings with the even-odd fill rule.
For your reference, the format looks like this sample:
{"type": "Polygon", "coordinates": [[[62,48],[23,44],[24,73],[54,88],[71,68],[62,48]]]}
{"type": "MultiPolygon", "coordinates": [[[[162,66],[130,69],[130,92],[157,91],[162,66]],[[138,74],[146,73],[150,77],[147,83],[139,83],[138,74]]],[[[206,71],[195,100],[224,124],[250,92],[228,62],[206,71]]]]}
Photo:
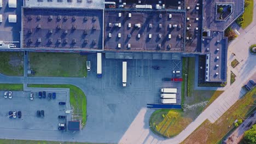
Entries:
{"type": "Polygon", "coordinates": [[[86,97],[84,92],[74,85],[40,85],[30,84],[28,87],[46,87],[46,88],[69,88],[70,104],[72,106],[72,118],[81,119],[83,126],[86,123],[86,97]]]}

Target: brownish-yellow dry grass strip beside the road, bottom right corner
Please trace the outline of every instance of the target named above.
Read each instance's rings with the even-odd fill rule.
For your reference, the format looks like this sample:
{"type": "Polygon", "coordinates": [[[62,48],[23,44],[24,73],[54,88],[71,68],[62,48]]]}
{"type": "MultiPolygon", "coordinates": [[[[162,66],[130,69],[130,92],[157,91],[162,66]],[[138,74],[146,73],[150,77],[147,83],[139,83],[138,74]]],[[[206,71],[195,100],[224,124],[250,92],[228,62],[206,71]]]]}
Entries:
{"type": "Polygon", "coordinates": [[[249,91],[230,107],[215,123],[206,120],[182,143],[217,143],[232,128],[236,119],[245,118],[254,109],[256,88],[249,91]]]}

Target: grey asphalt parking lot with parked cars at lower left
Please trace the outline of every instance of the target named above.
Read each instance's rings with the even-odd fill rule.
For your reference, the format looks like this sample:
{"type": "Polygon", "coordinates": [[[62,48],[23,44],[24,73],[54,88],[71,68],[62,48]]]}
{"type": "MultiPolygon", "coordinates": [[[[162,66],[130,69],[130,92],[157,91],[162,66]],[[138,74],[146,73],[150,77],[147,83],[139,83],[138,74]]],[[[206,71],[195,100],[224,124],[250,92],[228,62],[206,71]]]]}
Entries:
{"type": "Polygon", "coordinates": [[[30,130],[58,130],[59,123],[66,119],[59,119],[65,115],[66,105],[59,105],[59,101],[66,101],[66,93],[56,93],[56,99],[39,99],[38,92],[30,100],[30,91],[12,91],[13,98],[4,98],[4,91],[0,91],[0,127],[8,129],[30,130]],[[37,117],[37,110],[44,110],[44,118],[37,117]],[[21,111],[21,118],[9,118],[9,111],[21,111]]]}

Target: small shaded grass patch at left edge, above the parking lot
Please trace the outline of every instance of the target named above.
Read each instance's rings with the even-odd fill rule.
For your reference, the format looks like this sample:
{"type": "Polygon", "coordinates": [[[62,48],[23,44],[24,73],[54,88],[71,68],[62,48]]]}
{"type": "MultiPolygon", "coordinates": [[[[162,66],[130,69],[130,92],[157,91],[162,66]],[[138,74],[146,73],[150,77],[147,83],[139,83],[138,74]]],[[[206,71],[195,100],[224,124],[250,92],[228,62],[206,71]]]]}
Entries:
{"type": "Polygon", "coordinates": [[[0,73],[8,76],[22,76],[23,52],[0,52],[0,73]]]}

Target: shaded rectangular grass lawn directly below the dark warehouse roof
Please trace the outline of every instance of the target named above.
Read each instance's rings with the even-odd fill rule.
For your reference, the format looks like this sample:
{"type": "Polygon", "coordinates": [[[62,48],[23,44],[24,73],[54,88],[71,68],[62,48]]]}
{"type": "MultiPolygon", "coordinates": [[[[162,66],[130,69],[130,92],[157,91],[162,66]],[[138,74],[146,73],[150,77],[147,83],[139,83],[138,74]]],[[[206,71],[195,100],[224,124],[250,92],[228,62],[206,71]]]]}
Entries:
{"type": "Polygon", "coordinates": [[[86,60],[79,53],[29,53],[33,76],[86,77],[86,60]]]}

